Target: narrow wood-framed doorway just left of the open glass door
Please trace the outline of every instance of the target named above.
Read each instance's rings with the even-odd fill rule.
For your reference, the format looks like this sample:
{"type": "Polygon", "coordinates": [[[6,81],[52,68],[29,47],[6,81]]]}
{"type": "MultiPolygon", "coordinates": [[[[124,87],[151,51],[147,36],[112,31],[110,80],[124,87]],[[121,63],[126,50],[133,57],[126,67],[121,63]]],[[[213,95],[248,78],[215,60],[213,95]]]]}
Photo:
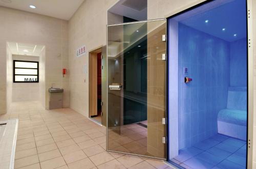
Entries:
{"type": "Polygon", "coordinates": [[[89,116],[102,124],[102,48],[89,53],[89,116]]]}

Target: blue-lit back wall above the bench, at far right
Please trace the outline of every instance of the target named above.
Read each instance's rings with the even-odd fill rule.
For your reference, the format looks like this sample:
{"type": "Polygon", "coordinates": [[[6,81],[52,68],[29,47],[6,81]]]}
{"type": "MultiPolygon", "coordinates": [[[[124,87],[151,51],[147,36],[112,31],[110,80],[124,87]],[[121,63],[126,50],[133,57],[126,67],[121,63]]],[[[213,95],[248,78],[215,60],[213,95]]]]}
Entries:
{"type": "Polygon", "coordinates": [[[230,43],[230,86],[247,86],[247,40],[230,43]]]}

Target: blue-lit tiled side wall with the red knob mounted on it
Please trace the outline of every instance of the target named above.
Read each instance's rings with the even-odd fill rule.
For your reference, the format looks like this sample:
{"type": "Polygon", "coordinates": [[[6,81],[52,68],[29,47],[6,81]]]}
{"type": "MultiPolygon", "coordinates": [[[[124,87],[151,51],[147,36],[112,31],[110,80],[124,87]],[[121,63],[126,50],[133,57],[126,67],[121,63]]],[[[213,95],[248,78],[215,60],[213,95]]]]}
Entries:
{"type": "Polygon", "coordinates": [[[226,108],[228,42],[179,23],[179,149],[217,133],[217,115],[226,108]],[[190,83],[184,83],[183,68],[190,83]]]}

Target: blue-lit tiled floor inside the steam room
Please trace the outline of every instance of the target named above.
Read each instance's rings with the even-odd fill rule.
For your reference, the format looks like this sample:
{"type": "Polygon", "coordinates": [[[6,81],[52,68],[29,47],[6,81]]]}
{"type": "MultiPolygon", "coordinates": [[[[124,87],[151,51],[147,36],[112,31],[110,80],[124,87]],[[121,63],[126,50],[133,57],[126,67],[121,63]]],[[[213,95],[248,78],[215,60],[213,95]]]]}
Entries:
{"type": "Polygon", "coordinates": [[[182,149],[173,160],[184,168],[246,168],[246,142],[217,134],[182,149]]]}

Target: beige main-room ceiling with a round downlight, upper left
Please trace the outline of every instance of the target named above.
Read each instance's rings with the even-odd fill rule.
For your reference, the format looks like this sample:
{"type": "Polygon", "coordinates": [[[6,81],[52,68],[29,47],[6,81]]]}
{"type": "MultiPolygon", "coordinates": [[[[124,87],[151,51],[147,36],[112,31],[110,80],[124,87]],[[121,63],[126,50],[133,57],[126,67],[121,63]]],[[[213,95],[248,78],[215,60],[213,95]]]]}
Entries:
{"type": "Polygon", "coordinates": [[[84,0],[0,0],[0,6],[69,20],[84,0]],[[36,6],[35,9],[30,5],[36,6]]]}

